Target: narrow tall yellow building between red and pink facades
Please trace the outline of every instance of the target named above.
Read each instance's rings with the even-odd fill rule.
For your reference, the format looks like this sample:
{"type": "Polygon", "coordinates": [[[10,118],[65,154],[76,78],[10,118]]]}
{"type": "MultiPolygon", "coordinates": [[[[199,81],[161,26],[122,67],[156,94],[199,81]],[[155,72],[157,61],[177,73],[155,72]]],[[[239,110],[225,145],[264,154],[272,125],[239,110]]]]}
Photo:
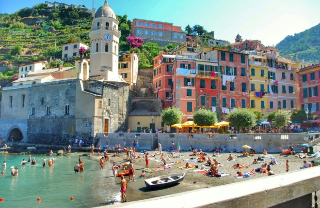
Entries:
{"type": "Polygon", "coordinates": [[[268,115],[268,67],[264,53],[249,54],[250,108],[268,115]]]}

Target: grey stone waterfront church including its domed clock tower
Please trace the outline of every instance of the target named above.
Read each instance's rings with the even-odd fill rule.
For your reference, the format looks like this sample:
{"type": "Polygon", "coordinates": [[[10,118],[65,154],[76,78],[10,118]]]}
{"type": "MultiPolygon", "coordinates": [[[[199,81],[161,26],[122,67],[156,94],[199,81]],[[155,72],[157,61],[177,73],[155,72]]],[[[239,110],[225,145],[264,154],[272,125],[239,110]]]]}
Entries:
{"type": "Polygon", "coordinates": [[[96,133],[126,131],[131,93],[118,74],[118,24],[106,1],[92,22],[90,60],[76,62],[75,77],[32,82],[30,76],[24,79],[32,84],[3,88],[2,138],[68,144],[76,138],[90,141],[96,133]]]}

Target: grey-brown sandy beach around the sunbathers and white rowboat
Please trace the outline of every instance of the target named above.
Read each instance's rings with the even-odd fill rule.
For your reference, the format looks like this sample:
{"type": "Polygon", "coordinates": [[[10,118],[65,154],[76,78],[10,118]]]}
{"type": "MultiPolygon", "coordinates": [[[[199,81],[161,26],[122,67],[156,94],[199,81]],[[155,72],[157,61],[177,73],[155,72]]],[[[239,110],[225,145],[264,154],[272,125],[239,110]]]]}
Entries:
{"type": "MultiPolygon", "coordinates": [[[[149,155],[155,154],[154,151],[148,151],[149,155]]],[[[134,165],[135,169],[135,180],[134,182],[128,182],[128,190],[127,190],[127,197],[129,201],[135,201],[135,200],[142,200],[147,198],[153,198],[173,193],[181,193],[186,191],[192,191],[196,189],[202,189],[202,188],[208,188],[212,186],[219,186],[224,185],[228,183],[235,183],[240,182],[243,180],[250,180],[254,178],[260,178],[260,177],[270,177],[267,174],[260,174],[256,173],[254,176],[250,176],[249,178],[236,178],[234,177],[237,175],[237,171],[240,171],[241,173],[248,173],[252,169],[256,169],[257,167],[260,167],[261,163],[259,164],[252,164],[254,159],[258,156],[261,156],[262,153],[257,153],[252,157],[245,157],[242,156],[242,153],[231,153],[234,160],[232,162],[227,162],[226,159],[228,158],[230,153],[221,153],[221,156],[210,158],[211,161],[213,159],[216,159],[218,163],[221,163],[221,167],[218,167],[219,171],[223,171],[224,173],[229,174],[229,176],[224,176],[221,178],[215,178],[215,177],[207,177],[204,176],[202,173],[198,173],[194,170],[199,170],[201,168],[201,164],[204,163],[198,163],[198,162],[191,162],[186,161],[190,160],[190,158],[198,158],[195,156],[190,156],[191,152],[183,151],[181,153],[178,153],[180,155],[179,158],[169,158],[170,153],[167,151],[163,152],[165,155],[165,158],[167,160],[167,163],[172,162],[181,162],[180,164],[169,164],[171,166],[170,169],[160,170],[160,171],[154,171],[151,173],[145,173],[145,178],[137,178],[137,176],[140,176],[142,173],[142,170],[145,168],[145,155],[141,154],[140,152],[136,152],[137,156],[140,156],[140,158],[136,158],[132,160],[132,163],[134,165]],[[189,164],[196,164],[199,166],[199,168],[193,168],[193,169],[181,169],[179,167],[185,165],[186,163],[189,164]],[[236,163],[239,163],[240,165],[250,165],[248,168],[243,169],[235,169],[232,166],[236,163]],[[144,184],[144,179],[146,178],[153,178],[161,175],[167,175],[171,173],[178,173],[178,172],[184,172],[186,174],[184,180],[173,187],[164,188],[160,190],[149,190],[146,188],[144,184]]],[[[207,158],[208,156],[212,156],[213,152],[206,152],[207,158]]],[[[303,166],[303,161],[306,160],[307,162],[310,162],[311,160],[314,160],[313,158],[304,158],[301,159],[299,157],[296,157],[297,155],[280,155],[279,153],[272,153],[270,154],[274,156],[277,160],[277,165],[272,165],[271,169],[274,171],[275,174],[280,173],[286,173],[286,160],[289,161],[289,172],[290,171],[296,171],[300,170],[300,167],[303,166]]],[[[126,159],[126,153],[119,153],[117,157],[111,157],[111,160],[114,161],[116,164],[122,165],[123,163],[127,162],[126,159]]],[[[163,167],[163,162],[157,162],[156,160],[160,159],[160,154],[155,155],[155,157],[149,157],[149,168],[159,168],[163,167]],[[152,159],[154,158],[154,159],[152,159]]],[[[266,163],[269,164],[271,159],[264,159],[266,163]]],[[[314,160],[319,162],[319,160],[314,160]]],[[[209,167],[208,167],[209,168],[209,167]]],[[[128,180],[128,177],[125,177],[128,180]]],[[[120,181],[120,177],[116,178],[116,183],[120,181]]]]}

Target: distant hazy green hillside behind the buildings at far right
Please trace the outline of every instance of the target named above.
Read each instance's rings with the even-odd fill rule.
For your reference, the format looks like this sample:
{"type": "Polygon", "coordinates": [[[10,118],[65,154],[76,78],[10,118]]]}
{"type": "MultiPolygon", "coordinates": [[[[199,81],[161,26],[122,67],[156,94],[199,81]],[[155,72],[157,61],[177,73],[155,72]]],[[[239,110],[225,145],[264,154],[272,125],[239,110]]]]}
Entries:
{"type": "Polygon", "coordinates": [[[320,61],[320,23],[298,34],[288,35],[276,45],[281,56],[319,63],[320,61]]]}

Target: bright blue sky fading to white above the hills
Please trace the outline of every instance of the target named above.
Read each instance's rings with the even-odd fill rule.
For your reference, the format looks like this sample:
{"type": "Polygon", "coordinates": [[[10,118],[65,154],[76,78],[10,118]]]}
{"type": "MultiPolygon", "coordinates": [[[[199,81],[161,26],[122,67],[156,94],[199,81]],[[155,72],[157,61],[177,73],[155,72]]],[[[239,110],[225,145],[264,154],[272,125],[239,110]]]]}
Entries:
{"type": "MultiPolygon", "coordinates": [[[[0,13],[13,13],[45,0],[0,0],[0,13]]],[[[49,0],[51,1],[51,0],[49,0]]],[[[92,8],[92,0],[56,0],[92,8]]],[[[53,0],[51,1],[53,2],[53,0]]],[[[104,0],[95,0],[96,9],[104,0]]],[[[171,22],[183,28],[199,24],[216,39],[258,39],[276,45],[287,35],[320,22],[320,0],[109,0],[117,15],[171,22]]]]}

